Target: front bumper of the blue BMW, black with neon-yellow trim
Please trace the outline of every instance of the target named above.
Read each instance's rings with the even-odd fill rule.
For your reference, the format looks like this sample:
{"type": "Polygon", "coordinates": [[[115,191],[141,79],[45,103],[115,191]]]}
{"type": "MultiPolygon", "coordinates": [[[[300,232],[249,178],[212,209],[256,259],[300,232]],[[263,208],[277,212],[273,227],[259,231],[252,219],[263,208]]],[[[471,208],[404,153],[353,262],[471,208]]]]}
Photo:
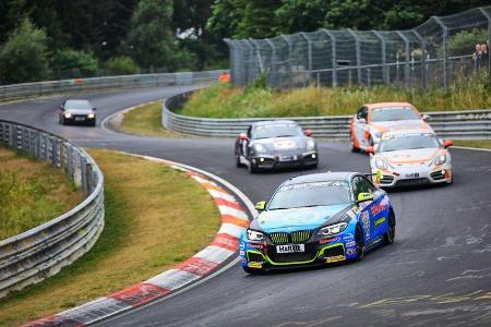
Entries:
{"type": "MultiPolygon", "coordinates": [[[[244,268],[271,270],[326,265],[354,259],[357,257],[355,229],[352,232],[347,230],[334,237],[322,239],[312,237],[308,242],[301,243],[304,246],[304,252],[296,253],[277,253],[276,249],[279,244],[273,243],[267,238],[263,242],[252,242],[247,240],[246,234],[242,234],[240,262],[244,268]]],[[[285,245],[292,245],[292,243],[285,245]]]]}

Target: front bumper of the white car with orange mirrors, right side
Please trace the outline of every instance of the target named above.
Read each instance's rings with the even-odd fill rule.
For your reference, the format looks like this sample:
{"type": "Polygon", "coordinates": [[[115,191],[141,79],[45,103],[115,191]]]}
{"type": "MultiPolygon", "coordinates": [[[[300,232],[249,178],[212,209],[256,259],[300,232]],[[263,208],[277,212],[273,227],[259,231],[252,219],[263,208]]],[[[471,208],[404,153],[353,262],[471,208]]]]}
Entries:
{"type": "MultiPolygon", "coordinates": [[[[379,169],[372,168],[375,175],[379,169]]],[[[415,186],[424,184],[441,184],[452,182],[451,165],[428,167],[422,165],[400,166],[397,169],[382,170],[382,179],[373,177],[374,184],[379,187],[415,186]]]]}

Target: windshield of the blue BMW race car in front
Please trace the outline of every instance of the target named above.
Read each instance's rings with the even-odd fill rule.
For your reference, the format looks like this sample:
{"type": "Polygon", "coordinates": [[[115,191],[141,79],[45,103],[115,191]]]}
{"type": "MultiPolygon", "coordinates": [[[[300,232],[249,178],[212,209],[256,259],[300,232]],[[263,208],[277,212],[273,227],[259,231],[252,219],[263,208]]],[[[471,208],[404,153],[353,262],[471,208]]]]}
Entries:
{"type": "Polygon", "coordinates": [[[349,204],[346,181],[308,182],[282,186],[270,202],[268,210],[349,204]]]}

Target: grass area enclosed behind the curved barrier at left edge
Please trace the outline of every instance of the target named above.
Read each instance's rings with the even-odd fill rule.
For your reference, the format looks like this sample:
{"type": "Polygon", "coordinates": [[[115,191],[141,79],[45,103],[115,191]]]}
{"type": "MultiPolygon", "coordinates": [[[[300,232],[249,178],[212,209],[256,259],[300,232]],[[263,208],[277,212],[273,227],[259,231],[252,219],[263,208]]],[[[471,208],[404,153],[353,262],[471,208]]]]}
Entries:
{"type": "Polygon", "coordinates": [[[0,240],[51,220],[83,198],[63,170],[0,146],[0,240]]]}

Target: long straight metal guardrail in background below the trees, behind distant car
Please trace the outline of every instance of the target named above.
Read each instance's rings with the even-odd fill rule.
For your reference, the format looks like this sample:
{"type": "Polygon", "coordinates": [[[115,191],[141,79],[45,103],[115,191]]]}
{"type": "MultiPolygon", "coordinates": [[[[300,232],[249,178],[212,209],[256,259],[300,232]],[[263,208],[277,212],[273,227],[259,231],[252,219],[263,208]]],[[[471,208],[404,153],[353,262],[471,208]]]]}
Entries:
{"type": "Polygon", "coordinates": [[[158,87],[209,83],[216,82],[221,72],[228,71],[137,74],[0,85],[0,101],[58,93],[76,93],[107,88],[158,87]]]}

